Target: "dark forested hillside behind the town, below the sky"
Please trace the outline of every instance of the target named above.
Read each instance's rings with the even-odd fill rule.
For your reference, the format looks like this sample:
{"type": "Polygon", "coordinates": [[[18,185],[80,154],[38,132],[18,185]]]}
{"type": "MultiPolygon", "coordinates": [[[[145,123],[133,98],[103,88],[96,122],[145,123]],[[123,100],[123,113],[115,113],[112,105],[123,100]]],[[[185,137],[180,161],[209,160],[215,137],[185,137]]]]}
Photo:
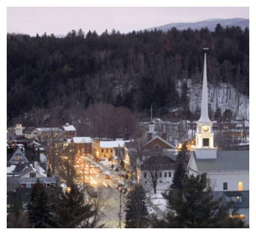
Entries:
{"type": "Polygon", "coordinates": [[[204,46],[210,48],[210,85],[228,83],[249,96],[248,28],[218,24],[215,31],[172,28],[126,35],[79,29],[65,38],[7,34],[7,125],[32,112],[55,112],[61,120],[71,107],[85,110],[100,102],[135,114],[149,113],[152,105],[159,116],[182,107],[180,115],[187,118],[194,108],[189,110],[185,83],[180,92],[178,84],[201,83],[204,46]]]}

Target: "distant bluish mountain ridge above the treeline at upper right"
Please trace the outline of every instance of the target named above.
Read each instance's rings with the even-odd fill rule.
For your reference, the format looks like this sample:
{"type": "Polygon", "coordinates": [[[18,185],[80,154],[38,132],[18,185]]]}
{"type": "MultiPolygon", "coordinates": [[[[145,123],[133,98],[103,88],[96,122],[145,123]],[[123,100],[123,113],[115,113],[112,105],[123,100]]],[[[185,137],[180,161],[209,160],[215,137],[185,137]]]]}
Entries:
{"type": "Polygon", "coordinates": [[[188,29],[189,27],[192,30],[198,29],[200,30],[201,28],[207,27],[210,31],[214,31],[215,27],[217,24],[220,24],[223,28],[227,26],[240,26],[242,29],[245,29],[245,27],[249,28],[249,19],[244,19],[244,18],[234,18],[234,19],[208,19],[205,21],[199,21],[199,22],[194,22],[194,23],[171,23],[167,25],[162,25],[162,26],[157,26],[157,27],[152,27],[148,28],[146,30],[151,31],[156,29],[160,29],[162,31],[168,31],[169,29],[172,29],[175,27],[178,30],[183,30],[183,29],[188,29]]]}

